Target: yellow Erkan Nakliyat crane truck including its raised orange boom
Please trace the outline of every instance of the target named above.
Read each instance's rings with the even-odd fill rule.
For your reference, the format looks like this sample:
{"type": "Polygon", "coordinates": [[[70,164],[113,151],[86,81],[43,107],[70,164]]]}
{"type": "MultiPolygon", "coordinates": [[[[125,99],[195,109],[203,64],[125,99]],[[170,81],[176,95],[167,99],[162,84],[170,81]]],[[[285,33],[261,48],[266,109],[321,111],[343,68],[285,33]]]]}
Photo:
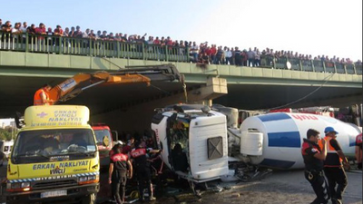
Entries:
{"type": "MultiPolygon", "coordinates": [[[[78,73],[55,85],[47,92],[51,105],[30,106],[24,118],[15,116],[21,131],[7,165],[6,203],[95,203],[100,151],[88,124],[90,111],[85,106],[58,103],[102,83],[150,85],[174,80],[183,83],[183,76],[170,63],[129,66],[113,73],[78,73]]],[[[185,92],[185,84],[183,88],[185,92]]]]}

